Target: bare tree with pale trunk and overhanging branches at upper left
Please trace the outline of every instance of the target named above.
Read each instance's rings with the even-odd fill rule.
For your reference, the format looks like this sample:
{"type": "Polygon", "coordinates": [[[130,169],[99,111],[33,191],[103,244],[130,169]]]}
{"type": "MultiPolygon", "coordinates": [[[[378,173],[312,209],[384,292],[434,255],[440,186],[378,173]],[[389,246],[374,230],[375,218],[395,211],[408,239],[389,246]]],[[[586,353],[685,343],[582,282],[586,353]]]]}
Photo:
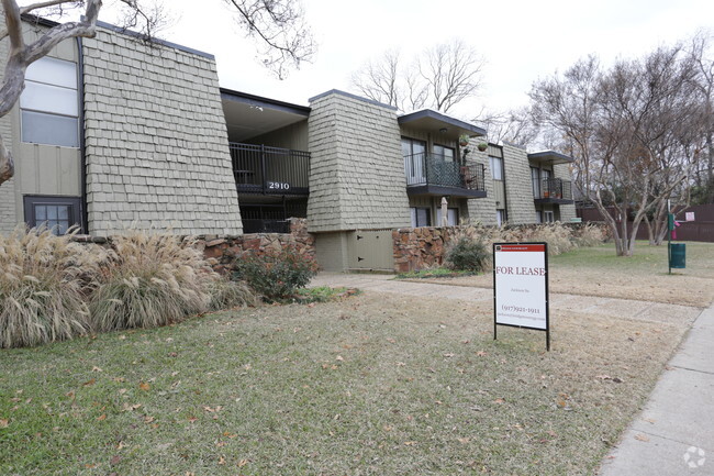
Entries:
{"type": "MultiPolygon", "coordinates": [[[[118,0],[122,5],[125,23],[123,27],[141,26],[140,33],[150,38],[164,19],[157,3],[140,0],[118,0]]],[[[224,0],[233,5],[241,24],[249,35],[257,35],[266,45],[264,64],[282,78],[290,65],[299,66],[309,60],[315,45],[302,21],[302,10],[290,0],[224,0]]],[[[0,41],[9,41],[4,78],[0,87],[0,117],[8,114],[18,102],[24,89],[27,67],[47,55],[60,42],[71,37],[93,37],[102,0],[38,0],[24,7],[16,0],[0,0],[4,15],[4,30],[0,41]],[[27,42],[22,30],[24,15],[49,14],[63,16],[69,10],[80,9],[77,21],[60,23],[44,30],[38,40],[27,42]]],[[[26,16],[25,16],[26,18],[26,16]]],[[[0,136],[0,185],[14,175],[12,154],[0,136]]]]}

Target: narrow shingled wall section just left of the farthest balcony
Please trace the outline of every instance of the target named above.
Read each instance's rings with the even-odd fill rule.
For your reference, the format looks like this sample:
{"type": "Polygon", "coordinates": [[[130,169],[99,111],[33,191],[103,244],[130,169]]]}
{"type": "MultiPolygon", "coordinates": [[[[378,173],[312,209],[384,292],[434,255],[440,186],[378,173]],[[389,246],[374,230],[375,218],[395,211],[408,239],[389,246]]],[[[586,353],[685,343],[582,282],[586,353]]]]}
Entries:
{"type": "Polygon", "coordinates": [[[509,223],[535,223],[535,202],[528,154],[524,148],[504,144],[505,200],[509,223]]]}

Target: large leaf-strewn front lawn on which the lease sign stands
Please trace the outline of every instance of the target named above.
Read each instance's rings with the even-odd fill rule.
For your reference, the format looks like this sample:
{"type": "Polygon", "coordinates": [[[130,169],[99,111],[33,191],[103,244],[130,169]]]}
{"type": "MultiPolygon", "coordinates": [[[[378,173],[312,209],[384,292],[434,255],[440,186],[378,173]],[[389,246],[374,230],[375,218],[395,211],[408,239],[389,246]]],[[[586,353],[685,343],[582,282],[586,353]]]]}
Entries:
{"type": "MultiPolygon", "coordinates": [[[[567,258],[567,257],[566,257],[567,258]]],[[[593,474],[685,325],[365,294],[0,351],[3,475],[593,474]]]]}

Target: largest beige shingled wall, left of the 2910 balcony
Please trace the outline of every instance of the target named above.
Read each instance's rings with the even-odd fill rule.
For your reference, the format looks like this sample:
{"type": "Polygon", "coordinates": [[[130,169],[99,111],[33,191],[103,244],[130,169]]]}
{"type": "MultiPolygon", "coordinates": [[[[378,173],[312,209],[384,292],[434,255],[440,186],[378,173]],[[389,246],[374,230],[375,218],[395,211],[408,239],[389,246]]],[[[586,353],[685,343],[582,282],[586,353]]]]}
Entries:
{"type": "Polygon", "coordinates": [[[214,59],[105,29],[83,55],[90,233],[241,233],[214,59]]]}

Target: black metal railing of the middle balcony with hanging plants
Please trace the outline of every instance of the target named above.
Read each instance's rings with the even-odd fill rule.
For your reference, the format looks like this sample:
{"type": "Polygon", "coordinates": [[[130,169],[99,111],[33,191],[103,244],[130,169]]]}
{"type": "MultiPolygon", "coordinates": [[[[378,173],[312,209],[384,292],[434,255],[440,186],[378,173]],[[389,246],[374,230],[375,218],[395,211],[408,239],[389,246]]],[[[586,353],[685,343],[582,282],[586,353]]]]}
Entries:
{"type": "Polygon", "coordinates": [[[460,165],[438,156],[413,154],[404,156],[406,186],[437,185],[469,190],[486,190],[483,164],[460,165]]]}

